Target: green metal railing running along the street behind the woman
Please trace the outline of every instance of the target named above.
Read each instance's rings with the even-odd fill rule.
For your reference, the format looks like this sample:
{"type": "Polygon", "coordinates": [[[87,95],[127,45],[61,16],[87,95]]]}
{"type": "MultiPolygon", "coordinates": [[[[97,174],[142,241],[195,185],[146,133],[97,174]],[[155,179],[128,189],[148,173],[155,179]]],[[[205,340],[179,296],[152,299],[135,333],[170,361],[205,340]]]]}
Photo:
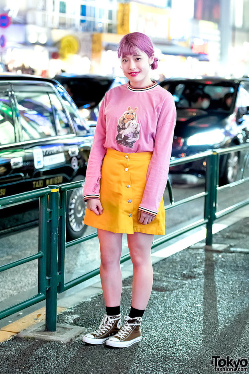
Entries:
{"type": "MultiPolygon", "coordinates": [[[[244,168],[249,161],[249,145],[235,146],[226,149],[202,152],[198,155],[176,159],[170,162],[170,166],[191,163],[198,160],[206,160],[207,171],[205,181],[205,191],[174,201],[173,188],[170,181],[167,183],[170,203],[165,206],[165,210],[170,210],[188,202],[204,198],[204,215],[202,219],[194,223],[187,224],[181,229],[177,229],[170,234],[155,239],[152,248],[167,242],[181,234],[194,228],[206,225],[206,245],[212,246],[212,227],[214,221],[240,207],[249,204],[249,198],[238,202],[220,212],[217,212],[217,194],[221,190],[237,187],[249,182],[249,177],[241,175],[240,180],[225,186],[218,187],[219,165],[221,155],[230,152],[245,152],[244,168]]],[[[243,172],[244,173],[244,172],[243,172]]],[[[75,188],[83,187],[84,181],[66,183],[60,186],[48,186],[37,191],[25,192],[19,195],[0,198],[0,206],[8,206],[13,203],[24,202],[32,198],[39,198],[39,244],[38,253],[18,261],[0,266],[0,272],[11,269],[18,265],[38,259],[38,293],[32,298],[13,305],[0,311],[0,319],[7,317],[24,308],[46,300],[46,325],[48,331],[56,331],[56,309],[57,292],[62,293],[77,284],[84,282],[100,273],[100,269],[94,269],[69,282],[65,282],[65,249],[75,244],[79,244],[97,237],[97,233],[84,236],[82,238],[66,242],[66,210],[67,192],[75,188]]],[[[130,254],[121,257],[121,263],[130,259],[130,254]]]]}

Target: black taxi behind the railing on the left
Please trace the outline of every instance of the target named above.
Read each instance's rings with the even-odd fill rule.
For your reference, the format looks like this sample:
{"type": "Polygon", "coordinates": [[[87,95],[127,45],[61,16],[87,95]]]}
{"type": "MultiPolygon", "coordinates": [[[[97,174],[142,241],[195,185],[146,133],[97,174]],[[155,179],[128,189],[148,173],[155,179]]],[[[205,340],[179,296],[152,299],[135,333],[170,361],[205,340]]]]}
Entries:
{"type": "MultiPolygon", "coordinates": [[[[57,81],[1,74],[0,197],[83,180],[93,131],[57,81]]],[[[0,211],[1,230],[7,209],[0,211]]],[[[68,193],[71,238],[83,234],[84,213],[82,190],[75,189],[68,193]]]]}

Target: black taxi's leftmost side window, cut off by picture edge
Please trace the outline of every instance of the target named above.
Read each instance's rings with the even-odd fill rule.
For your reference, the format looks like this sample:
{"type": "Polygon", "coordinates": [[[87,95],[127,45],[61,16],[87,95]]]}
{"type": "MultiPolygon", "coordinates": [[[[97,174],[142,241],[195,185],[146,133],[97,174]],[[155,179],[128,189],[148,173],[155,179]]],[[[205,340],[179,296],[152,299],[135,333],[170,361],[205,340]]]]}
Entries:
{"type": "Polygon", "coordinates": [[[13,110],[8,92],[0,92],[0,145],[15,142],[13,110]]]}

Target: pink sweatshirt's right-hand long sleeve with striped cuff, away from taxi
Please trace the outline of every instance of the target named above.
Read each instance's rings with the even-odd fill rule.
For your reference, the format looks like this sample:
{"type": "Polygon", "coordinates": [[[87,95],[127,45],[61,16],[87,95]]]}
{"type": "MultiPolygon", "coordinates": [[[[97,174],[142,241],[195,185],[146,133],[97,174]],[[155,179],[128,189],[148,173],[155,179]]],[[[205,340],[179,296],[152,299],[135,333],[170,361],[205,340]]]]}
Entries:
{"type": "Polygon", "coordinates": [[[139,206],[140,211],[154,216],[158,212],[168,180],[175,123],[176,108],[173,98],[169,97],[163,103],[158,117],[154,151],[147,171],[143,198],[139,206]]]}

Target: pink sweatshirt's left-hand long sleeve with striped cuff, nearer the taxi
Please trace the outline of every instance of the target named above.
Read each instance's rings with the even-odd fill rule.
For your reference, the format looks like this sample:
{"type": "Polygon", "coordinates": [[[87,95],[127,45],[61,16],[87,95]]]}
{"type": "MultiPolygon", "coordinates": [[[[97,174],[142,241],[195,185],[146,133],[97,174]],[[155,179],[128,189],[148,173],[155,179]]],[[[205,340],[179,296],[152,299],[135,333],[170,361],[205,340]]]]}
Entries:
{"type": "Polygon", "coordinates": [[[84,200],[89,198],[100,198],[101,167],[106,154],[106,148],[104,147],[106,139],[106,118],[104,108],[105,99],[102,101],[100,106],[94,140],[87,164],[85,185],[83,189],[84,200]]]}

